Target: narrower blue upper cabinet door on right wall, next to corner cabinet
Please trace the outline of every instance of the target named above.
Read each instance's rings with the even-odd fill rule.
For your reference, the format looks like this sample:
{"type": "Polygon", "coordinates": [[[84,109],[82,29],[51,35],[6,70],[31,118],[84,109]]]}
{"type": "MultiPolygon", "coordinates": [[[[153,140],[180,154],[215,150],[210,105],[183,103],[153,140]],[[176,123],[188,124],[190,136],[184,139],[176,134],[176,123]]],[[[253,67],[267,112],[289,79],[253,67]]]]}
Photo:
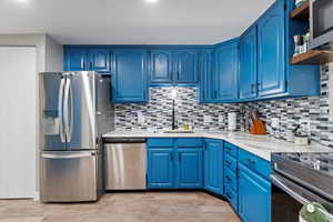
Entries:
{"type": "Polygon", "coordinates": [[[256,26],[240,39],[240,99],[256,97],[256,26]]]}

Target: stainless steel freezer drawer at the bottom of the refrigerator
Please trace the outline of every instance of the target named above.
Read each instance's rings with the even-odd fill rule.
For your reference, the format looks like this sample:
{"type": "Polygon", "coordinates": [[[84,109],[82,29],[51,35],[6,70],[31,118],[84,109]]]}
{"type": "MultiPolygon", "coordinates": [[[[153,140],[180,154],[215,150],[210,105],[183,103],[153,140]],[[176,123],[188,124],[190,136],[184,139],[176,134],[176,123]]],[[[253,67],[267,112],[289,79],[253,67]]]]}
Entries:
{"type": "Polygon", "coordinates": [[[97,151],[44,151],[41,201],[97,201],[97,151]]]}

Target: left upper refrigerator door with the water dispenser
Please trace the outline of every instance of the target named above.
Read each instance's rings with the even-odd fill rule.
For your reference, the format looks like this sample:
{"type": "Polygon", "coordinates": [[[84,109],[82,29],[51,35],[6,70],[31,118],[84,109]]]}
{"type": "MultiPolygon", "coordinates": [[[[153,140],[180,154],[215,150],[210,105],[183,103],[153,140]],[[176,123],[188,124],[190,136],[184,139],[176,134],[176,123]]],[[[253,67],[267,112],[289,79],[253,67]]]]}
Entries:
{"type": "Polygon", "coordinates": [[[63,94],[65,74],[47,72],[40,74],[40,149],[65,150],[63,128],[63,94]]]}

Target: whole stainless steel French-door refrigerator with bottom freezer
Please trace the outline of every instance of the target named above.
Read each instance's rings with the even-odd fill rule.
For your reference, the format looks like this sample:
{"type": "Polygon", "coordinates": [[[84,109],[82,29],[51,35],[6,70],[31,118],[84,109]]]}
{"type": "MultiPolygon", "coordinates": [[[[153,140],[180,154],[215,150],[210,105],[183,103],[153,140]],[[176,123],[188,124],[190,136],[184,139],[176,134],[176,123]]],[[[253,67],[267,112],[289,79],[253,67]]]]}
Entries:
{"type": "Polygon", "coordinates": [[[42,202],[97,201],[103,193],[102,134],[113,128],[110,78],[40,73],[42,202]]]}

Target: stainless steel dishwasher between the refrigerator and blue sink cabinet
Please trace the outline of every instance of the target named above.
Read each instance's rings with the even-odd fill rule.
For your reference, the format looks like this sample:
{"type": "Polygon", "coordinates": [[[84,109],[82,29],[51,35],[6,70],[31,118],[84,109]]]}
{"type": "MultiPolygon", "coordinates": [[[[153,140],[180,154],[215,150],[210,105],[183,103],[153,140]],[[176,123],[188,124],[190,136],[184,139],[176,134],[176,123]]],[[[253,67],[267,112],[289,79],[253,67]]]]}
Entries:
{"type": "Polygon", "coordinates": [[[145,139],[108,138],[104,148],[105,189],[145,190],[145,139]]]}

